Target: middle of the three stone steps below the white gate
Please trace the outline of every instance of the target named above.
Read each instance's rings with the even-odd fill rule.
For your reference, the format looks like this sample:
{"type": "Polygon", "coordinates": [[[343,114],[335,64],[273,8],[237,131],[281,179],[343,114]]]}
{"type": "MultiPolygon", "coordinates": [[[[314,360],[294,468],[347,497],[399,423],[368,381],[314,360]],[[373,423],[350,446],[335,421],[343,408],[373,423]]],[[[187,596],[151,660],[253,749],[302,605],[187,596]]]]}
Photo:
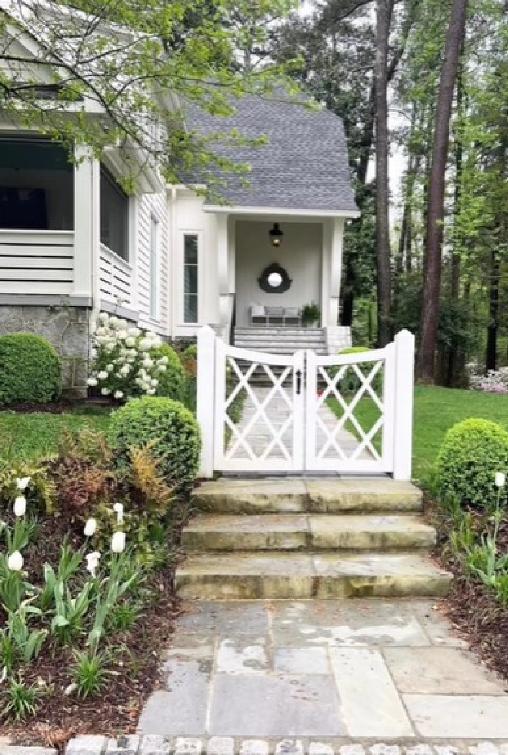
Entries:
{"type": "Polygon", "coordinates": [[[417,516],[202,514],[183,529],[186,553],[236,550],[430,550],[436,531],[417,516]]]}

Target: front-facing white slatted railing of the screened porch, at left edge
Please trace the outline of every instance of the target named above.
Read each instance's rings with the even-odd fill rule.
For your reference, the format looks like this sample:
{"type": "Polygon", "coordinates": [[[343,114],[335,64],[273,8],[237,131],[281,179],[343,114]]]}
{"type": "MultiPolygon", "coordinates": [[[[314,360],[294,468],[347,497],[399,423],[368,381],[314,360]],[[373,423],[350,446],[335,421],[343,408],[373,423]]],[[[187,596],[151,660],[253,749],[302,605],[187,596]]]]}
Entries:
{"type": "Polygon", "coordinates": [[[73,231],[0,230],[0,294],[71,294],[73,231]]]}

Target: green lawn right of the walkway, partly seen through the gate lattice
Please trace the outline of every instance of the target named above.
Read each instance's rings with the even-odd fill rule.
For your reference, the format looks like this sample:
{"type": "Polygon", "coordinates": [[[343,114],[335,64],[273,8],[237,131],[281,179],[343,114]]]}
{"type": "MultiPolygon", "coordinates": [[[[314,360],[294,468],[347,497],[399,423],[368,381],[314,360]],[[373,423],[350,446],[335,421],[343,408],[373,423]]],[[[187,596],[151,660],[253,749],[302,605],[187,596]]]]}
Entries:
{"type": "MultiPolygon", "coordinates": [[[[342,415],[336,399],[328,401],[330,408],[342,415]]],[[[371,399],[363,399],[355,416],[364,430],[372,427],[379,411],[371,399]]],[[[503,424],[508,429],[508,396],[481,393],[473,390],[452,390],[417,386],[414,390],[413,476],[423,479],[433,467],[439,446],[452,425],[468,417],[482,417],[503,424]]],[[[353,431],[351,424],[346,429],[353,431]]],[[[378,447],[378,442],[376,443],[378,447]]]]}

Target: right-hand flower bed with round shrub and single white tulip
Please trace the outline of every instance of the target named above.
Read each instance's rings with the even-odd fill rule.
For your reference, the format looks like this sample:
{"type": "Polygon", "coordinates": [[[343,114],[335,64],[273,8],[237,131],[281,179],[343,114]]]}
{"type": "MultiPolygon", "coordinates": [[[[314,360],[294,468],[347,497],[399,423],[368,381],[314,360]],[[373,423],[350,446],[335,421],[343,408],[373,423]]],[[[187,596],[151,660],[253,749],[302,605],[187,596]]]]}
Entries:
{"type": "Polygon", "coordinates": [[[445,437],[427,514],[436,553],[453,572],[442,609],[470,648],[508,680],[508,436],[468,420],[445,437]],[[497,467],[497,471],[494,469],[497,467]]]}

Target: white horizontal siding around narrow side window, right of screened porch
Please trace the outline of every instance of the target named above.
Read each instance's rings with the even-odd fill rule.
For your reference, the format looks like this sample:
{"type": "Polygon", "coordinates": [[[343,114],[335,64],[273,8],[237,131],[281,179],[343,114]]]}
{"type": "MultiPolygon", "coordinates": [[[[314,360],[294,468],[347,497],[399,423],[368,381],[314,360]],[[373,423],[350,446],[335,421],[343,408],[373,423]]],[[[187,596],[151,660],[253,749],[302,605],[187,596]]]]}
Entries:
{"type": "Polygon", "coordinates": [[[169,307],[169,236],[168,236],[168,207],[164,192],[143,194],[137,209],[137,308],[140,313],[140,323],[144,327],[153,328],[159,333],[168,334],[169,307]],[[158,317],[152,318],[150,311],[150,224],[151,217],[159,222],[159,276],[158,317]]]}

